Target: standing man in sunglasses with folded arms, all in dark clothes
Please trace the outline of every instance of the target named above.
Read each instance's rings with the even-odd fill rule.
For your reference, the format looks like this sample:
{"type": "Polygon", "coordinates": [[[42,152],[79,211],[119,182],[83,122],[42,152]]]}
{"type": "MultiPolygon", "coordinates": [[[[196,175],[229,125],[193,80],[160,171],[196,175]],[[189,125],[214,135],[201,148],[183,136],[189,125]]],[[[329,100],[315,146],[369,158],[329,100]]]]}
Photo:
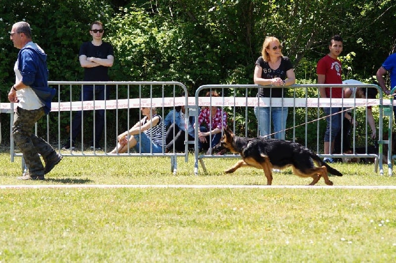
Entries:
{"type": "MultiPolygon", "coordinates": [[[[80,65],[84,68],[84,81],[109,81],[108,68],[113,65],[114,51],[111,44],[103,42],[103,24],[100,21],[95,21],[91,24],[90,34],[92,41],[85,42],[80,46],[80,65]]],[[[80,100],[89,101],[107,100],[109,99],[110,89],[103,85],[83,85],[80,100]],[[95,94],[95,97],[94,97],[95,94]]],[[[95,110],[95,136],[92,137],[91,149],[100,150],[100,138],[102,136],[104,127],[104,110],[95,110]]],[[[74,142],[77,135],[81,132],[82,111],[78,111],[71,125],[71,140],[70,138],[62,149],[73,150],[75,148],[74,142]]]]}

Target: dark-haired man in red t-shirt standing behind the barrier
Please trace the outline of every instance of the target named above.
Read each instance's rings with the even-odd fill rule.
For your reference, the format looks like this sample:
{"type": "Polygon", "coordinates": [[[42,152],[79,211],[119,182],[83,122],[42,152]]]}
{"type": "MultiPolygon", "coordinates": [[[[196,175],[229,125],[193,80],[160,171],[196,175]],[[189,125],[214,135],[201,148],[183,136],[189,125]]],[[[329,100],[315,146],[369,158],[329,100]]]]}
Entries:
{"type": "MultiPolygon", "coordinates": [[[[341,73],[342,65],[338,56],[343,51],[343,39],[336,35],[330,40],[330,52],[321,58],[316,65],[316,73],[318,74],[318,84],[343,84],[341,73]]],[[[342,98],[344,89],[342,87],[319,88],[322,98],[342,98]]],[[[324,153],[331,154],[334,149],[334,139],[341,129],[343,120],[341,107],[323,108],[326,116],[327,127],[324,137],[324,153]],[[337,113],[332,115],[334,113],[337,113]],[[331,116],[330,116],[331,115],[331,116]]],[[[332,163],[332,158],[324,158],[325,162],[332,163]]]]}

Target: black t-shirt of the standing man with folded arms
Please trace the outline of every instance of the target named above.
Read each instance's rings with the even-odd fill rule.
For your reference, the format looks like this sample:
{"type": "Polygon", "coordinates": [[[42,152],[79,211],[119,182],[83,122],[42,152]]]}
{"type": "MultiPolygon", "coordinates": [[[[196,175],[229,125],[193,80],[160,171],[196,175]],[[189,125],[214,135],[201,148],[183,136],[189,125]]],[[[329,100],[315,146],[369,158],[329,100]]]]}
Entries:
{"type": "MultiPolygon", "coordinates": [[[[97,46],[89,41],[81,44],[79,56],[81,55],[106,59],[108,55],[114,56],[114,50],[111,44],[106,42],[102,42],[101,45],[97,46]]],[[[108,67],[105,66],[84,68],[84,81],[109,81],[107,72],[108,67]]]]}

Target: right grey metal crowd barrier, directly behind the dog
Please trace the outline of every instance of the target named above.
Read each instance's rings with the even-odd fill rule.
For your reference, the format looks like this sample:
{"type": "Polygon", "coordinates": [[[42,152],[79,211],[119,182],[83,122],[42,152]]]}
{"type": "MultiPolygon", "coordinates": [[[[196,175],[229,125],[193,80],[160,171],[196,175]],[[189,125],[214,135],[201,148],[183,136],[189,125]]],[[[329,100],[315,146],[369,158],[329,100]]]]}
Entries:
{"type": "MultiPolygon", "coordinates": [[[[388,140],[383,139],[383,121],[384,116],[389,117],[389,108],[392,108],[392,102],[387,99],[383,99],[383,92],[380,87],[377,85],[372,84],[345,84],[345,85],[337,85],[337,87],[343,88],[376,88],[378,90],[378,99],[362,99],[362,98],[320,98],[319,95],[319,88],[331,88],[335,85],[293,85],[293,86],[286,86],[283,88],[289,89],[288,93],[292,94],[291,97],[284,97],[284,98],[257,98],[256,94],[258,93],[259,88],[279,88],[279,87],[271,87],[271,86],[258,86],[258,85],[204,85],[197,89],[195,94],[195,113],[198,113],[198,109],[200,106],[218,106],[221,107],[222,110],[226,110],[227,112],[231,113],[233,119],[243,119],[244,127],[239,126],[237,135],[245,136],[245,137],[255,137],[259,135],[258,133],[258,123],[257,120],[252,114],[252,108],[255,106],[260,107],[271,107],[278,106],[278,107],[288,107],[289,108],[289,116],[288,116],[288,127],[287,127],[287,135],[286,139],[297,141],[300,144],[315,149],[316,153],[319,157],[332,157],[332,158],[374,158],[374,171],[378,172],[378,166],[380,169],[380,175],[383,175],[383,144],[388,144],[391,142],[391,135],[388,140]],[[221,97],[209,97],[209,103],[202,103],[202,95],[200,94],[201,91],[211,91],[216,90],[220,91],[221,97]],[[313,91],[315,97],[309,97],[308,91],[313,91]],[[298,96],[298,94],[302,94],[298,96]],[[201,96],[200,96],[201,95],[201,96]],[[352,152],[351,153],[344,153],[343,146],[341,146],[341,153],[339,154],[324,154],[323,153],[323,132],[321,130],[326,128],[326,121],[324,113],[321,112],[321,108],[323,107],[342,107],[346,111],[347,109],[352,110],[353,117],[364,117],[364,120],[358,120],[359,125],[364,124],[364,131],[365,137],[361,139],[356,133],[356,127],[353,127],[353,136],[352,136],[352,152]],[[367,120],[367,108],[366,106],[375,106],[378,105],[379,109],[379,132],[378,132],[378,151],[372,152],[370,151],[368,145],[368,120],[367,120]],[[356,109],[364,107],[365,114],[358,114],[356,109]],[[293,109],[293,110],[291,110],[293,109]],[[303,121],[298,121],[296,111],[300,113],[304,113],[303,121]],[[384,114],[385,112],[385,114],[384,114]],[[309,113],[309,116],[308,116],[309,113]],[[250,116],[250,119],[248,118],[250,116]],[[253,116],[253,117],[252,117],[253,116]],[[313,116],[313,117],[312,117],[313,116]],[[290,120],[292,118],[292,120],[290,120]],[[321,124],[321,122],[323,122],[321,124]],[[256,125],[251,125],[251,123],[256,123],[256,125]],[[316,145],[308,145],[308,130],[309,134],[312,134],[311,130],[313,124],[316,123],[316,145]],[[250,127],[248,127],[250,124],[250,127]],[[248,129],[254,126],[255,131],[250,132],[250,136],[248,136],[248,129]],[[308,127],[309,126],[309,127],[308,127]],[[301,127],[304,128],[304,137],[296,137],[297,129],[301,130],[301,127]],[[241,130],[245,130],[245,134],[241,134],[241,130]],[[363,152],[357,152],[357,143],[363,143],[362,148],[363,152]]],[[[192,113],[193,114],[193,113],[192,113]]],[[[301,115],[301,114],[300,114],[301,115]]],[[[391,118],[391,117],[390,117],[391,118]]],[[[356,118],[355,118],[356,119],[356,118]]],[[[228,123],[228,126],[231,126],[231,123],[228,123]]],[[[236,122],[233,122],[232,130],[236,131],[236,122]]],[[[342,129],[344,125],[342,124],[342,129]]],[[[196,127],[198,127],[198,118],[196,118],[196,127]]],[[[201,154],[198,152],[198,130],[196,129],[196,144],[195,144],[195,167],[194,167],[194,174],[198,175],[198,162],[200,163],[203,171],[206,173],[206,168],[203,162],[204,158],[240,158],[239,155],[213,155],[213,154],[201,154]]],[[[389,131],[392,131],[392,122],[390,122],[389,131]]],[[[211,132],[210,132],[211,133],[211,132]]],[[[212,136],[212,134],[210,134],[212,136]]],[[[343,135],[341,135],[341,144],[343,144],[343,135]]],[[[312,138],[311,140],[312,141],[312,138]]],[[[390,147],[389,147],[390,148],[390,147]]],[[[388,174],[392,175],[392,166],[391,161],[388,158],[388,174]]]]}

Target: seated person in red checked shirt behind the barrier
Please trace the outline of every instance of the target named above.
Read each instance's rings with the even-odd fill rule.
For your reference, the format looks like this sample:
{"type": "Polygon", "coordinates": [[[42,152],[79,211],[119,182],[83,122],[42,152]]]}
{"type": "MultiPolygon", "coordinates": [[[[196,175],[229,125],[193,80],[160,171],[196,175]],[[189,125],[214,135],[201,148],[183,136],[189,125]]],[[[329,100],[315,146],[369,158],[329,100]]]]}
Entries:
{"type": "MultiPolygon", "coordinates": [[[[219,94],[216,91],[208,91],[206,97],[210,96],[219,97],[219,94]]],[[[221,130],[227,126],[227,113],[216,106],[202,108],[198,116],[198,126],[198,150],[208,149],[206,154],[212,154],[213,147],[220,142],[221,130]]]]}

